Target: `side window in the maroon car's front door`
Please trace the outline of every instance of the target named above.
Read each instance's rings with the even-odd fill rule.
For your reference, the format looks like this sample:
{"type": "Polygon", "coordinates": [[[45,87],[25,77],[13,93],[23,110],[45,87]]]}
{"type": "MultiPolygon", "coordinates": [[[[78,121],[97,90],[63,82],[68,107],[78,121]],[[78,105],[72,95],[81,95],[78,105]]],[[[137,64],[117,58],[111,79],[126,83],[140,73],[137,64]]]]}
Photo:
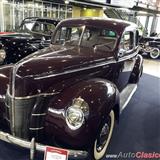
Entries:
{"type": "Polygon", "coordinates": [[[129,51],[134,47],[134,33],[133,32],[125,32],[122,36],[120,42],[120,48],[129,51]]]}

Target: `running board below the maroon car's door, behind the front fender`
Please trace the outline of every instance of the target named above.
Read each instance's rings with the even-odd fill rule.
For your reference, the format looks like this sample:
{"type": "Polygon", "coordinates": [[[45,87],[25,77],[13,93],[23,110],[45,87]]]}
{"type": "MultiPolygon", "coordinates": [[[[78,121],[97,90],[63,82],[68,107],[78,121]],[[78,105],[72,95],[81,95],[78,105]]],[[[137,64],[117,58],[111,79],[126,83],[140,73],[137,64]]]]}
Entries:
{"type": "Polygon", "coordinates": [[[128,84],[120,93],[120,113],[125,109],[133,94],[137,89],[137,84],[128,84]]]}

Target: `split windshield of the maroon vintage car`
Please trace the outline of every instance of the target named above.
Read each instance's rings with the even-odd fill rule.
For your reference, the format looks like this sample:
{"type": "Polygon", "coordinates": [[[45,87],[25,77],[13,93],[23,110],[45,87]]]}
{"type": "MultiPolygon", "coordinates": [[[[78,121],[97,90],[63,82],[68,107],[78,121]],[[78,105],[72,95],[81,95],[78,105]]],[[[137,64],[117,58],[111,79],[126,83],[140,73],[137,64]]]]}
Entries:
{"type": "Polygon", "coordinates": [[[92,26],[61,27],[55,34],[53,44],[83,46],[99,50],[113,50],[117,41],[116,32],[92,26]]]}

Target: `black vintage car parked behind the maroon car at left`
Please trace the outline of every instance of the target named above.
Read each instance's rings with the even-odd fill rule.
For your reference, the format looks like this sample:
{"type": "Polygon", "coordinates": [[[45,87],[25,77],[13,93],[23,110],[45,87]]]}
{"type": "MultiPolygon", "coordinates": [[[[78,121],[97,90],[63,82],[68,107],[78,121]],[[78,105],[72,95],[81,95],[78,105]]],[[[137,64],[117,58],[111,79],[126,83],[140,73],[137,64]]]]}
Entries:
{"type": "Polygon", "coordinates": [[[0,35],[0,64],[16,63],[25,56],[49,46],[57,19],[29,17],[16,32],[0,35]]]}

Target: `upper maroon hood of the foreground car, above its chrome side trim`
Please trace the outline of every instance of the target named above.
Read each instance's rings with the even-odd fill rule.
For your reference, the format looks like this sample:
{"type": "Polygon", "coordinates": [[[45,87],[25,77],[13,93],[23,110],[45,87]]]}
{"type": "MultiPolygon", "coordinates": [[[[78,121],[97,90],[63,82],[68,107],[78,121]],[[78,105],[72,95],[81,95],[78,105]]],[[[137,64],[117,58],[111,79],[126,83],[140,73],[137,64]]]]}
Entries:
{"type": "Polygon", "coordinates": [[[29,55],[17,63],[19,77],[45,77],[98,64],[113,58],[105,53],[86,47],[50,46],[29,55]]]}

